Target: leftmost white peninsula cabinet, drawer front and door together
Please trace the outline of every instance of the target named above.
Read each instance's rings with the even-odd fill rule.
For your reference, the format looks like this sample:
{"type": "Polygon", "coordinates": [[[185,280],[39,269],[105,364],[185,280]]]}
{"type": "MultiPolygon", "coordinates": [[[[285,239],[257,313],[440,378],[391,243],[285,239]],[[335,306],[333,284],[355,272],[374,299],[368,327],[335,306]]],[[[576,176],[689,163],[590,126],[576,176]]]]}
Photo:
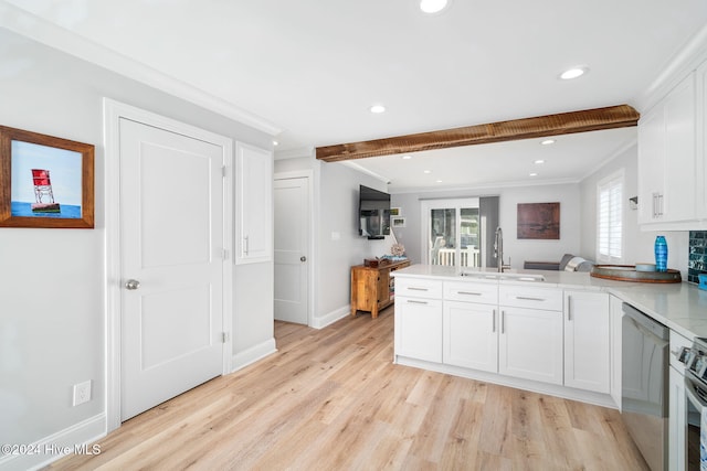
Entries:
{"type": "Polygon", "coordinates": [[[395,355],[442,363],[442,281],[395,280],[395,355]]]}

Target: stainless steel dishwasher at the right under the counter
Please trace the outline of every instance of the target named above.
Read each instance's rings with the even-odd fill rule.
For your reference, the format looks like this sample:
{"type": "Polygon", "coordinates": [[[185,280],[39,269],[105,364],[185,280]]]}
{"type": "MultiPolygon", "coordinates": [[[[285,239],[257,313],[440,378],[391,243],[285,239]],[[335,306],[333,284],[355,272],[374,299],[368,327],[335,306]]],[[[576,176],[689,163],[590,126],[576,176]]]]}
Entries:
{"type": "Polygon", "coordinates": [[[669,330],[623,303],[621,416],[653,471],[667,469],[669,330]]]}

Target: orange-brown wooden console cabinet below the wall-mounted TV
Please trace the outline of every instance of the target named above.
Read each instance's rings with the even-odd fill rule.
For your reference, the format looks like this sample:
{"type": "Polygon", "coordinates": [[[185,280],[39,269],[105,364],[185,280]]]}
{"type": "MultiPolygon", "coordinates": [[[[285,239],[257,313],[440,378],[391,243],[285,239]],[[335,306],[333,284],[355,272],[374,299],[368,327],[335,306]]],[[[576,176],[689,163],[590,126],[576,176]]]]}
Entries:
{"type": "Polygon", "coordinates": [[[394,281],[390,272],[409,266],[410,260],[401,260],[376,268],[351,267],[351,315],[368,311],[376,319],[381,309],[393,303],[394,281]]]}

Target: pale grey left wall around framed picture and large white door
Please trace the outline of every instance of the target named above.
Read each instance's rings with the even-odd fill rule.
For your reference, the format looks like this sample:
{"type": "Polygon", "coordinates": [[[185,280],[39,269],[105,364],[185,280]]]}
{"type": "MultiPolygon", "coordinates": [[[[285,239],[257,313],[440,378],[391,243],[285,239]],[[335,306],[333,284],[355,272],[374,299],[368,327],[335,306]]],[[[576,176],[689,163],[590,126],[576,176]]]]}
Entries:
{"type": "MultiPolygon", "coordinates": [[[[0,125],[96,146],[95,229],[0,228],[0,443],[32,443],[105,413],[103,97],[262,147],[271,138],[4,29],[0,83],[0,125]],[[92,400],[72,407],[72,385],[87,379],[92,400]]],[[[238,350],[272,339],[272,264],[234,278],[238,350]]]]}

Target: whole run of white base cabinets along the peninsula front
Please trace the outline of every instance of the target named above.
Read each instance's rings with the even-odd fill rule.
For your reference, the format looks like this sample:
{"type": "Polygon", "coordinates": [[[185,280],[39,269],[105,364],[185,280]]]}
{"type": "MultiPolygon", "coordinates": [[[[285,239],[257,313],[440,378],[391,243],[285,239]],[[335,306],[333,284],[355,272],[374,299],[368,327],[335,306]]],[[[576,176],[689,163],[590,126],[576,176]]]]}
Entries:
{"type": "Polygon", "coordinates": [[[404,277],[395,290],[394,354],[402,363],[612,392],[605,292],[404,277]]]}

